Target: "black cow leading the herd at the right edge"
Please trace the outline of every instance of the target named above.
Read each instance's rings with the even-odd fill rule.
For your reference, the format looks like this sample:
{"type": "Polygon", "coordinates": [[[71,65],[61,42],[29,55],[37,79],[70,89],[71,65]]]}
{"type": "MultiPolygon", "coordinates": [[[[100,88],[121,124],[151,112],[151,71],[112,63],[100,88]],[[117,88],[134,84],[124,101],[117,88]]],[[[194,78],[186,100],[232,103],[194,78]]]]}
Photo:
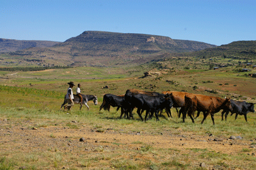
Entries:
{"type": "Polygon", "coordinates": [[[255,112],[253,103],[239,102],[239,101],[230,99],[230,105],[231,105],[233,111],[230,111],[229,109],[223,110],[221,112],[221,118],[222,118],[221,120],[223,120],[223,115],[225,113],[225,120],[227,121],[228,113],[231,112],[231,116],[234,113],[236,113],[235,120],[237,119],[237,115],[240,114],[240,115],[244,115],[244,119],[245,119],[245,121],[247,121],[247,113],[255,112]]]}

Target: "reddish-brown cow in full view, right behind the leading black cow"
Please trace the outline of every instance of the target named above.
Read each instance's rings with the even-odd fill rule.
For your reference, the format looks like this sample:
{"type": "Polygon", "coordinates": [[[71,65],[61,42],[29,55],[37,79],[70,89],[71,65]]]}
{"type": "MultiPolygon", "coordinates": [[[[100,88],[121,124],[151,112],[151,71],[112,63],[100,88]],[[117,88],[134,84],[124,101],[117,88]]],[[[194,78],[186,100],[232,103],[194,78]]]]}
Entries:
{"type": "MultiPolygon", "coordinates": [[[[220,97],[209,97],[205,95],[185,95],[185,107],[188,109],[188,116],[191,118],[192,122],[195,123],[192,115],[195,114],[196,110],[204,112],[204,119],[201,124],[204,123],[206,117],[211,114],[212,123],[214,123],[214,113],[219,112],[221,109],[231,109],[230,98],[220,98],[220,97]]],[[[184,120],[183,120],[184,121],[184,120]]]]}

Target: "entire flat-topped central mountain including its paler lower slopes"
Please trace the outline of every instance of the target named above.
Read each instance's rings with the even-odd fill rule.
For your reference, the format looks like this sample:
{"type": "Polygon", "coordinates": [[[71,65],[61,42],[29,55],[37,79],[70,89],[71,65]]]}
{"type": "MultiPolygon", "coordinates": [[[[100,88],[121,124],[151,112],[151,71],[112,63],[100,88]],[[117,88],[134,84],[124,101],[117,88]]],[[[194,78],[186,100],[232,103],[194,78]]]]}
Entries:
{"type": "Polygon", "coordinates": [[[193,52],[216,47],[204,42],[174,40],[167,36],[105,31],[84,31],[47,48],[31,48],[9,52],[42,65],[122,66],[139,65],[164,53],[193,52]]]}

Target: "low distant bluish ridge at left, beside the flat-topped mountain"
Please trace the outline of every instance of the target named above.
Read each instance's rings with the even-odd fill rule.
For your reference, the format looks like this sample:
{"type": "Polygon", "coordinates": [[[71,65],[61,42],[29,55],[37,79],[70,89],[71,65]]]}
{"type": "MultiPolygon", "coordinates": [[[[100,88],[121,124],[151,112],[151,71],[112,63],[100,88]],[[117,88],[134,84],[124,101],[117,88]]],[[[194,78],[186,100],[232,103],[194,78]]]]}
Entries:
{"type": "Polygon", "coordinates": [[[28,49],[31,47],[52,47],[56,43],[60,42],[36,40],[10,40],[0,38],[0,52],[15,52],[17,50],[28,49]]]}

